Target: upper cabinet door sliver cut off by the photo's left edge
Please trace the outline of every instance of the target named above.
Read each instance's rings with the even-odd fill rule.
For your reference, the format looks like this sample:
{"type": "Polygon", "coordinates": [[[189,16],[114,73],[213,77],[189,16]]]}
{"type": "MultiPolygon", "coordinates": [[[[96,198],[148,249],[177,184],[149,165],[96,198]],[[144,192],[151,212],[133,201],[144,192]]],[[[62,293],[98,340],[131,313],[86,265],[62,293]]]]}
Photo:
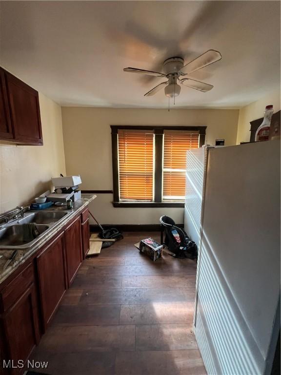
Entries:
{"type": "Polygon", "coordinates": [[[12,139],[13,132],[10,120],[8,97],[4,70],[0,68],[0,139],[12,139]]]}

